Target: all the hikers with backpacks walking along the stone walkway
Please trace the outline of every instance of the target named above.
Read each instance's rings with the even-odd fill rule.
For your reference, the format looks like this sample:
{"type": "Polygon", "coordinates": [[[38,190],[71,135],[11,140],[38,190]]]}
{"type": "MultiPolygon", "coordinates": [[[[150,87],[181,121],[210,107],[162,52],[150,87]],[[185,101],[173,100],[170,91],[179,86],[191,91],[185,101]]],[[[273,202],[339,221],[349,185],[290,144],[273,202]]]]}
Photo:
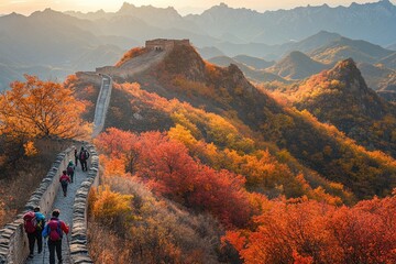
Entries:
{"type": "MultiPolygon", "coordinates": [[[[88,170],[87,161],[89,158],[89,152],[81,146],[80,152],[75,148],[75,163],[70,160],[67,168],[62,172],[59,177],[61,186],[64,196],[67,196],[67,186],[74,183],[75,169],[78,161],[81,164],[82,172],[88,170]]],[[[43,251],[43,238],[48,239],[48,251],[50,251],[50,264],[55,264],[55,252],[57,255],[58,263],[63,263],[62,258],[62,238],[63,233],[69,232],[67,224],[59,220],[61,211],[55,209],[52,212],[51,220],[45,223],[45,217],[40,212],[40,207],[35,207],[33,211],[29,211],[23,216],[24,230],[28,233],[29,240],[29,257],[32,258],[34,254],[34,245],[37,242],[37,253],[41,254],[43,251]]],[[[66,237],[67,238],[67,237],[66,237]]],[[[45,248],[44,248],[45,249],[45,248]]],[[[43,254],[44,257],[44,254],[43,254]]]]}

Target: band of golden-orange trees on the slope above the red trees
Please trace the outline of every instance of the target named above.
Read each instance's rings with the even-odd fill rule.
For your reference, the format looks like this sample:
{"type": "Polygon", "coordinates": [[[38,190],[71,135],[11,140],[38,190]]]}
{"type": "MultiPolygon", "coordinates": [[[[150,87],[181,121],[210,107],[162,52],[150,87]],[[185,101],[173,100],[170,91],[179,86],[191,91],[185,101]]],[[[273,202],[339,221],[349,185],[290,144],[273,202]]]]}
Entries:
{"type": "MultiPolygon", "coordinates": [[[[189,103],[144,91],[138,84],[116,85],[114,88],[131,96],[131,103],[138,98],[151,109],[168,113],[175,123],[167,133],[169,138],[182,142],[194,158],[206,165],[243,175],[249,190],[270,197],[308,195],[309,198],[332,204],[353,200],[341,184],[326,180],[315,172],[300,174],[302,166],[287,150],[279,150],[274,144],[260,141],[260,138],[257,140],[257,135],[243,125],[233,112],[224,116],[207,112],[189,103]]],[[[284,124],[290,127],[290,122],[293,125],[293,120],[285,114],[274,118],[277,119],[274,127],[278,129],[284,124]]],[[[273,132],[282,136],[280,131],[273,132]]]]}

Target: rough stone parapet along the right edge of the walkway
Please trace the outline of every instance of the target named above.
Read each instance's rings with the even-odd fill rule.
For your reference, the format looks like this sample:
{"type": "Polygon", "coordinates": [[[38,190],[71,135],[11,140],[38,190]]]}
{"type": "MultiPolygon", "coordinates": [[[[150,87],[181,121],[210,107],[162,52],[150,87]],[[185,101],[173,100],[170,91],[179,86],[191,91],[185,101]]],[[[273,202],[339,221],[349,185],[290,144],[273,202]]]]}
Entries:
{"type": "Polygon", "coordinates": [[[81,183],[80,188],[77,190],[73,208],[70,261],[76,264],[94,263],[89,256],[87,246],[87,208],[90,188],[99,186],[99,157],[92,145],[88,145],[87,147],[91,154],[91,164],[89,166],[87,179],[81,183]]]}

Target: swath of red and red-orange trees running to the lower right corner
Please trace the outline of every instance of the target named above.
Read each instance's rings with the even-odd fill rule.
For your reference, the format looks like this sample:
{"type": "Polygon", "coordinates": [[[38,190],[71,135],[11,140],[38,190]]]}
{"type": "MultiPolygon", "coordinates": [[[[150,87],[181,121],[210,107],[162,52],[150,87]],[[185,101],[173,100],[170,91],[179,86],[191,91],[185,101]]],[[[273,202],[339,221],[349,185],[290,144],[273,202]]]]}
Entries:
{"type": "MultiPolygon", "coordinates": [[[[124,183],[139,180],[158,197],[219,219],[228,229],[222,238],[223,249],[234,248],[245,263],[393,263],[396,260],[395,196],[360,201],[353,207],[310,200],[307,196],[268,200],[263,195],[248,193],[241,176],[194,160],[180,141],[165,133],[133,134],[108,129],[96,144],[103,153],[108,176],[111,174],[107,167],[121,162],[124,183]]],[[[262,158],[270,156],[262,153],[262,158]]],[[[320,193],[312,191],[308,194],[320,193]]],[[[103,194],[108,198],[119,197],[120,202],[109,204],[113,208],[111,213],[103,215],[113,219],[112,213],[119,211],[123,198],[109,190],[103,194]]],[[[98,208],[97,204],[94,207],[98,208]]],[[[130,219],[135,217],[132,215],[130,219]]],[[[164,244],[162,249],[169,246],[164,244]]],[[[174,253],[160,254],[177,258],[174,253]]]]}

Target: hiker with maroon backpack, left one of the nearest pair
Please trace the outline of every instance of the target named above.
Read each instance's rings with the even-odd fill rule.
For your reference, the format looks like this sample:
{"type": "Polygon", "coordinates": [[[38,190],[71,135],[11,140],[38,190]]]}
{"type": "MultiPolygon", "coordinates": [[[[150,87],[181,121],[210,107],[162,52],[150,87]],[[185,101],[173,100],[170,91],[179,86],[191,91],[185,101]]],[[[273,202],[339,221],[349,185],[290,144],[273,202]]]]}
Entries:
{"type": "Polygon", "coordinates": [[[45,217],[40,212],[40,207],[35,207],[33,211],[29,211],[23,216],[24,230],[28,233],[29,240],[29,257],[33,257],[34,244],[37,241],[37,253],[43,251],[43,237],[42,231],[45,224],[45,217]]]}

